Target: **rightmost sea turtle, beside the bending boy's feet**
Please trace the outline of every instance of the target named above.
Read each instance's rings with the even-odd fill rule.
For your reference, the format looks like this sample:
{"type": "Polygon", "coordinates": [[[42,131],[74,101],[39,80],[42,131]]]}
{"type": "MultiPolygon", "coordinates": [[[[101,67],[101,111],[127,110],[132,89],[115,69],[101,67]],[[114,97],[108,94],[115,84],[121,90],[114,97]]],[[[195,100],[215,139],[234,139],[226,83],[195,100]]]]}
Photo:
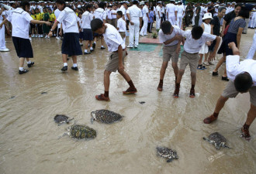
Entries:
{"type": "Polygon", "coordinates": [[[224,148],[230,148],[228,147],[226,144],[227,139],[225,137],[223,137],[223,135],[220,135],[219,132],[214,132],[213,134],[209,135],[208,138],[202,138],[204,140],[206,140],[207,142],[215,145],[216,149],[219,150],[220,147],[224,147],[224,148]]]}

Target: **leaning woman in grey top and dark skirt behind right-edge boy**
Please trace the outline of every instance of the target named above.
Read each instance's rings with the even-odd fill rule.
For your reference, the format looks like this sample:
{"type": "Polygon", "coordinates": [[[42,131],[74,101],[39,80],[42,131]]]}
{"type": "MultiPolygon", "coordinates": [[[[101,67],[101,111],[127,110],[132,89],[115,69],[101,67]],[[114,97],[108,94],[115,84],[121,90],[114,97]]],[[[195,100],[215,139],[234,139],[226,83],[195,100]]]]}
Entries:
{"type": "MultiPolygon", "coordinates": [[[[228,43],[236,43],[237,48],[240,47],[240,39],[242,36],[242,32],[244,30],[244,27],[246,26],[245,19],[249,18],[250,11],[252,9],[252,5],[247,5],[246,7],[242,7],[240,12],[238,13],[238,16],[231,20],[230,26],[227,30],[227,34],[223,37],[223,43],[220,46],[220,49],[218,51],[219,54],[223,54],[223,57],[219,60],[217,63],[215,69],[213,70],[213,76],[217,76],[218,69],[226,61],[226,56],[232,55],[232,49],[229,49],[228,43]]],[[[221,80],[228,81],[227,78],[227,70],[225,68],[224,74],[221,77],[221,80]]]]}

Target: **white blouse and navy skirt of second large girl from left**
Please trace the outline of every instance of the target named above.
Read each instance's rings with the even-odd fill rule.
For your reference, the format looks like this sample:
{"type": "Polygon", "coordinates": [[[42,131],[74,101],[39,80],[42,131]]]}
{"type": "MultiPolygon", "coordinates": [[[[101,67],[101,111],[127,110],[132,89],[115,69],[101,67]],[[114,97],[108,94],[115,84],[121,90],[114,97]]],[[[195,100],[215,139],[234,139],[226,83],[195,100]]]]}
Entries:
{"type": "Polygon", "coordinates": [[[68,56],[82,55],[79,43],[77,15],[75,12],[66,7],[61,11],[57,21],[64,26],[64,39],[61,46],[61,53],[67,54],[68,56]]]}

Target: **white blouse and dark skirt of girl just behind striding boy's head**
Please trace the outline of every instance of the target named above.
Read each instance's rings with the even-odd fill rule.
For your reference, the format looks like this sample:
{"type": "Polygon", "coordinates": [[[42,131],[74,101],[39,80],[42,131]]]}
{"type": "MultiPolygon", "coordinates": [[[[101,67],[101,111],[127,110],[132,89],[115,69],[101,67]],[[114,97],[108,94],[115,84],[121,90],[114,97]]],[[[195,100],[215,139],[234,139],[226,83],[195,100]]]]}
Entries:
{"type": "Polygon", "coordinates": [[[92,13],[86,11],[81,15],[81,28],[83,29],[84,40],[93,40],[91,21],[92,13]]]}

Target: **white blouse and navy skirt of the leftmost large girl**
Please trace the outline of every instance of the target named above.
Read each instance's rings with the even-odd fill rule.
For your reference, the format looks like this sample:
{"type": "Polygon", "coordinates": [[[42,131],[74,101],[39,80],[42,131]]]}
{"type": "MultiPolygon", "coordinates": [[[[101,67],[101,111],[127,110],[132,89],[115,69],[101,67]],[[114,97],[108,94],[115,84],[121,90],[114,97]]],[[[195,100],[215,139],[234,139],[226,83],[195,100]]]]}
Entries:
{"type": "Polygon", "coordinates": [[[33,58],[29,40],[29,23],[33,18],[21,8],[13,10],[7,20],[12,23],[12,42],[19,58],[33,58]]]}

